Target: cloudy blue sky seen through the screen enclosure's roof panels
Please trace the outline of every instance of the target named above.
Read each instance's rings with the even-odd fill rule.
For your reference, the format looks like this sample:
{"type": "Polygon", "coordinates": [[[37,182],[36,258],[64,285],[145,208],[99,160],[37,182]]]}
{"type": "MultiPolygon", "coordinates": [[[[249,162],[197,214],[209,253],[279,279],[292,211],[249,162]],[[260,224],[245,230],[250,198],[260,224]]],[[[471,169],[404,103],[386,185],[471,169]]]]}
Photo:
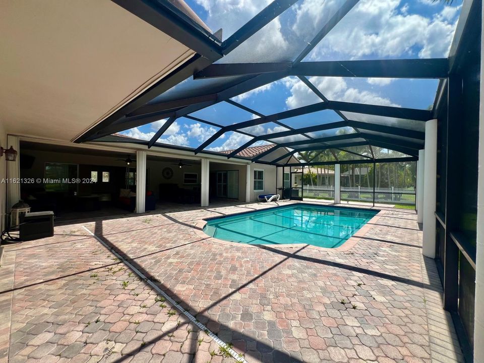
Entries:
{"type": "MultiPolygon", "coordinates": [[[[270,3],[269,0],[186,2],[212,31],[222,28],[223,39],[270,3]]],[[[343,0],[299,0],[219,62],[291,61],[342,3],[343,0]]],[[[432,0],[360,0],[304,61],[445,57],[460,7],[458,0],[450,6],[432,0]]],[[[330,100],[420,109],[432,105],[438,85],[437,80],[416,79],[312,77],[310,80],[330,100]]],[[[189,82],[197,81],[187,80],[185,86],[189,82]]],[[[321,101],[295,77],[286,77],[232,99],[265,115],[321,101]]],[[[258,117],[225,102],[192,115],[222,126],[258,117]]],[[[286,126],[299,128],[335,120],[339,116],[327,111],[287,120],[286,126]]],[[[147,140],[163,123],[160,120],[123,134],[147,140]]],[[[159,141],[197,147],[217,130],[182,117],[159,141]]],[[[285,130],[280,125],[268,124],[244,131],[260,135],[285,130]]],[[[250,139],[244,134],[230,133],[212,143],[209,149],[234,149],[250,139]]]]}

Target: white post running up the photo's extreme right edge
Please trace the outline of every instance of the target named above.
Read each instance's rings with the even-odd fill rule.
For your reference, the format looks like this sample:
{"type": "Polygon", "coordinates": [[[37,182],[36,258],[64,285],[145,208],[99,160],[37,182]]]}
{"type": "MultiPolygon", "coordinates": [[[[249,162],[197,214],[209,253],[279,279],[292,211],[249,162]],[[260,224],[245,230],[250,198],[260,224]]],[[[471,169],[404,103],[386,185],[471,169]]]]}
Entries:
{"type": "MultiPolygon", "coordinates": [[[[482,9],[484,18],[484,9],[482,9]]],[[[481,32],[484,45],[484,28],[481,32]]],[[[484,71],[484,58],[480,59],[480,72],[484,71]]],[[[479,151],[477,159],[477,235],[475,256],[475,308],[474,308],[474,361],[484,361],[484,80],[480,78],[480,114],[479,114],[479,151]]]]}

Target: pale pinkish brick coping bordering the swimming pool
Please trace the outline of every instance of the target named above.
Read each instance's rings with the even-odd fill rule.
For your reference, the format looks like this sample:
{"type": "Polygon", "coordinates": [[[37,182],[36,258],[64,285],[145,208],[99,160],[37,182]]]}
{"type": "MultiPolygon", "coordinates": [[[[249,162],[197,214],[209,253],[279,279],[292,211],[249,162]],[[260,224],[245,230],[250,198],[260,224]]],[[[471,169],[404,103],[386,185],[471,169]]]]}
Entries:
{"type": "MultiPolygon", "coordinates": [[[[290,206],[292,204],[306,204],[306,205],[313,204],[313,205],[320,205],[321,206],[321,204],[318,204],[316,202],[306,202],[306,201],[304,201],[304,202],[298,202],[298,201],[291,201],[291,202],[285,203],[283,206],[280,206],[278,204],[273,204],[273,205],[271,205],[268,208],[261,208],[261,209],[259,209],[257,211],[251,211],[251,212],[235,212],[235,213],[227,214],[224,217],[209,217],[209,218],[199,219],[199,220],[196,220],[195,221],[195,227],[197,227],[197,229],[195,230],[195,233],[199,237],[203,238],[206,241],[211,241],[211,242],[215,242],[215,243],[222,243],[224,245],[227,245],[228,244],[229,246],[245,245],[245,246],[248,246],[248,247],[250,247],[250,246],[257,247],[257,248],[261,248],[261,247],[262,248],[267,248],[267,247],[270,247],[270,248],[275,248],[275,249],[295,249],[295,248],[301,248],[303,246],[307,246],[310,249],[311,248],[314,248],[314,249],[323,250],[323,251],[346,252],[346,251],[351,250],[353,247],[355,247],[357,245],[357,243],[359,242],[359,240],[361,238],[364,238],[365,234],[368,233],[368,231],[373,227],[373,225],[376,224],[376,222],[384,214],[386,214],[386,212],[388,212],[387,210],[378,208],[378,213],[372,219],[370,219],[367,223],[365,223],[364,226],[362,226],[351,237],[349,237],[346,241],[344,241],[341,246],[338,246],[338,247],[335,247],[335,248],[319,247],[319,246],[308,245],[308,244],[250,245],[250,244],[244,244],[244,243],[240,243],[240,242],[231,242],[231,241],[226,241],[226,240],[223,240],[223,239],[218,239],[218,238],[215,238],[215,237],[211,237],[211,236],[209,236],[208,234],[206,234],[203,231],[203,228],[207,224],[207,221],[208,220],[211,220],[211,219],[221,219],[221,218],[226,218],[226,217],[232,217],[232,216],[235,216],[235,215],[243,215],[243,214],[248,214],[248,213],[254,213],[254,212],[269,210],[269,209],[273,209],[273,208],[277,208],[277,207],[290,206]]],[[[327,204],[327,205],[324,205],[324,206],[344,208],[344,209],[371,209],[371,210],[377,209],[376,207],[366,207],[366,206],[361,206],[361,207],[353,208],[353,207],[347,207],[347,206],[339,206],[337,204],[327,204]]]]}

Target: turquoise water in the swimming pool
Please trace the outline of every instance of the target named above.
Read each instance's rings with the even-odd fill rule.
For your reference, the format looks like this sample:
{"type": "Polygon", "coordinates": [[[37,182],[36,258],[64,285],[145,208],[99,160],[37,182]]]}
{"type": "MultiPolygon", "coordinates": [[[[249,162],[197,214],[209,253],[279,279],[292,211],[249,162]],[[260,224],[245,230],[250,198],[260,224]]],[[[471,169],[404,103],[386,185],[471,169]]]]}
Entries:
{"type": "Polygon", "coordinates": [[[341,246],[379,211],[294,204],[207,220],[212,237],[250,245],[341,246]]]}

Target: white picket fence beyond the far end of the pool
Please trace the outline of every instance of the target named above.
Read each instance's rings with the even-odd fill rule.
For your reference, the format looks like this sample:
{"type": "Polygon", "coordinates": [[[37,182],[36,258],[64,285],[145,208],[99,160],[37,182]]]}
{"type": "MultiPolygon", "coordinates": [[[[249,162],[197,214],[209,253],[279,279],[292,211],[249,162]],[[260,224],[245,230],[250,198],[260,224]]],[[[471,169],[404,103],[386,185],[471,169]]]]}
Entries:
{"type": "MultiPolygon", "coordinates": [[[[306,185],[303,193],[307,198],[334,198],[334,187],[306,185]]],[[[341,199],[373,202],[373,188],[341,187],[341,199]]],[[[375,188],[375,202],[414,204],[415,188],[375,188]]]]}

